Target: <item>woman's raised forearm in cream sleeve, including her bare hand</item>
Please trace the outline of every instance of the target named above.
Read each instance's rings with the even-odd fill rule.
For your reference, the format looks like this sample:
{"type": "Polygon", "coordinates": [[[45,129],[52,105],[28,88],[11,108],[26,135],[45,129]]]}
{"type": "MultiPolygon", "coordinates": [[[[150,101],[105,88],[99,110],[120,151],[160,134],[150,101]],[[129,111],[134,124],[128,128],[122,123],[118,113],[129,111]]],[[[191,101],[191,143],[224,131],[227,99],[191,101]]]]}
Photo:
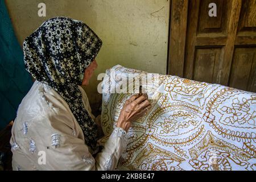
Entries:
{"type": "Polygon", "coordinates": [[[112,170],[117,167],[118,160],[127,146],[126,131],[131,127],[131,123],[145,114],[150,107],[146,94],[140,97],[134,95],[125,102],[118,118],[117,127],[105,143],[102,152],[96,156],[96,169],[112,170]]]}

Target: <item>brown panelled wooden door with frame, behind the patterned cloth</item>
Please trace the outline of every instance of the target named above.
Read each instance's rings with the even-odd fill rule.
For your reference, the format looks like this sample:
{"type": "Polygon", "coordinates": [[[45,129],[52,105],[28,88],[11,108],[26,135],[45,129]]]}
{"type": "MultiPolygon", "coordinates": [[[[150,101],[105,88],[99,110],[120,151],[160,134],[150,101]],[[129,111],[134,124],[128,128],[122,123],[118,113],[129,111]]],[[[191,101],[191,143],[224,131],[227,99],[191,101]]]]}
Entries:
{"type": "Polygon", "coordinates": [[[171,6],[168,73],[256,92],[256,0],[173,0],[171,6]],[[208,14],[210,3],[216,17],[208,14]]]}

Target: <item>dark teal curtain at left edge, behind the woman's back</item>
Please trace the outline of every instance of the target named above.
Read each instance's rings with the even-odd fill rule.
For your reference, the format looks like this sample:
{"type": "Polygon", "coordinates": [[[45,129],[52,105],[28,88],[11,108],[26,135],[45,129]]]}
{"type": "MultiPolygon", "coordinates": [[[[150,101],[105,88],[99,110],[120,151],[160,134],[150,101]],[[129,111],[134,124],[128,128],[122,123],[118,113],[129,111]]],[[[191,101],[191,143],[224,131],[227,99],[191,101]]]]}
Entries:
{"type": "Polygon", "coordinates": [[[0,0],[0,129],[15,119],[16,110],[31,86],[22,48],[14,34],[5,1],[0,0]]]}

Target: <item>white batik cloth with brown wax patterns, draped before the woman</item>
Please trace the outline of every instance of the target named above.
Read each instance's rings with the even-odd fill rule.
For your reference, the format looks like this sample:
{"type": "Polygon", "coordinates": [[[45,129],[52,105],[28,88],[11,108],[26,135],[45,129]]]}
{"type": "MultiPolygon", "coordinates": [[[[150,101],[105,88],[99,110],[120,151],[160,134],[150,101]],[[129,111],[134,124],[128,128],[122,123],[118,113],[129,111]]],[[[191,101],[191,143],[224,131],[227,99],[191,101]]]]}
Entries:
{"type": "MultiPolygon", "coordinates": [[[[115,73],[106,71],[112,78],[104,78],[105,87],[109,81],[122,85],[130,73],[137,73],[134,80],[146,73],[121,65],[112,69],[115,73]]],[[[256,169],[255,93],[177,76],[159,75],[159,80],[151,81],[146,92],[154,96],[152,107],[133,122],[127,133],[129,143],[119,169],[256,169]]],[[[105,135],[112,133],[119,112],[131,95],[103,94],[101,123],[105,135]]]]}

